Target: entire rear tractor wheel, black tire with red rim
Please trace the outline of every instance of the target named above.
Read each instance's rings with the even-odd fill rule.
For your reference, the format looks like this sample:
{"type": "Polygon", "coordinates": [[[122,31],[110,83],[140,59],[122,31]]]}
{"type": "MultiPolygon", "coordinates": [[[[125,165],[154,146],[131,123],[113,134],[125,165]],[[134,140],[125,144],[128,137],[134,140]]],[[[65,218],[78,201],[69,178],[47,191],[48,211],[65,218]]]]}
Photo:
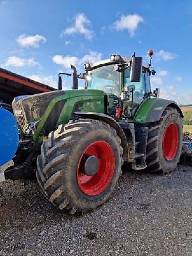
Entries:
{"type": "Polygon", "coordinates": [[[176,108],[167,107],[159,122],[148,125],[147,170],[153,173],[172,172],[180,159],[182,122],[176,108]]]}

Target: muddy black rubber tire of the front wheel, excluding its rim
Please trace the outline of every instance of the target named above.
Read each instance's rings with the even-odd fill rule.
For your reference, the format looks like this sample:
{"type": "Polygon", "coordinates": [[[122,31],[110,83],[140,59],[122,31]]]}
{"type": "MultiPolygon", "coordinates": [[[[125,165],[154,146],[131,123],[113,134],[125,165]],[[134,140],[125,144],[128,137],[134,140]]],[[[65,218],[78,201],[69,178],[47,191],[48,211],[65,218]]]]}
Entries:
{"type": "Polygon", "coordinates": [[[103,204],[114,190],[123,164],[123,149],[116,131],[109,124],[79,119],[60,125],[43,142],[37,159],[37,180],[44,196],[61,210],[71,214],[92,210],[103,204]],[[94,141],[106,141],[115,156],[114,173],[107,188],[96,196],[85,195],[77,183],[78,161],[94,141]]]}

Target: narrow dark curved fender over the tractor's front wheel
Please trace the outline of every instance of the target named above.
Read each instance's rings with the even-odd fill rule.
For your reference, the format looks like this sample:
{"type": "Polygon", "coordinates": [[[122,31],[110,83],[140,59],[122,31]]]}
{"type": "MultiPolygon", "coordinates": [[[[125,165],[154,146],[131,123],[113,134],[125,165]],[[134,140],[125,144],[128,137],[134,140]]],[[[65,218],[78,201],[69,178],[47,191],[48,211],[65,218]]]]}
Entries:
{"type": "Polygon", "coordinates": [[[129,158],[129,150],[128,150],[127,138],[125,136],[125,133],[123,132],[123,129],[118,124],[118,122],[115,121],[111,116],[107,116],[102,113],[93,113],[93,112],[73,112],[73,115],[82,116],[83,118],[87,118],[87,119],[95,119],[95,120],[103,121],[109,124],[113,129],[115,129],[115,131],[117,132],[117,135],[121,139],[121,147],[123,148],[123,158],[124,159],[129,158]]]}

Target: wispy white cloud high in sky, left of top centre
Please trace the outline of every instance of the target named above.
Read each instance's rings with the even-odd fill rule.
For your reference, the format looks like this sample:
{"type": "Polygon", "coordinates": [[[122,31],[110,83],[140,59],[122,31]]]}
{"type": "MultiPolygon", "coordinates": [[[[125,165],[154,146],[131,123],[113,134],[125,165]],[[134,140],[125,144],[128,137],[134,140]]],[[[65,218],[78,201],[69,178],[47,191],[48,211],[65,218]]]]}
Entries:
{"type": "Polygon", "coordinates": [[[91,22],[88,20],[84,13],[77,13],[73,18],[73,26],[66,28],[62,34],[64,35],[73,35],[73,34],[82,34],[86,39],[91,40],[94,36],[94,32],[90,30],[91,22]]]}

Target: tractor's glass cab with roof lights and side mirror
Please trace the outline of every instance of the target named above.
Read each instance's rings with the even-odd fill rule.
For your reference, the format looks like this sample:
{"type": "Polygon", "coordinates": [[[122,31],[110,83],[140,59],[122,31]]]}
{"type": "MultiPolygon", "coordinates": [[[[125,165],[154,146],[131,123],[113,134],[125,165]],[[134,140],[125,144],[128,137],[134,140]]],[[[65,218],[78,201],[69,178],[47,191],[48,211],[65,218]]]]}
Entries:
{"type": "Polygon", "coordinates": [[[85,88],[103,91],[105,113],[117,119],[132,119],[141,102],[152,95],[150,74],[155,72],[150,65],[142,65],[142,58],[116,54],[93,65],[86,63],[84,68],[85,88]]]}

